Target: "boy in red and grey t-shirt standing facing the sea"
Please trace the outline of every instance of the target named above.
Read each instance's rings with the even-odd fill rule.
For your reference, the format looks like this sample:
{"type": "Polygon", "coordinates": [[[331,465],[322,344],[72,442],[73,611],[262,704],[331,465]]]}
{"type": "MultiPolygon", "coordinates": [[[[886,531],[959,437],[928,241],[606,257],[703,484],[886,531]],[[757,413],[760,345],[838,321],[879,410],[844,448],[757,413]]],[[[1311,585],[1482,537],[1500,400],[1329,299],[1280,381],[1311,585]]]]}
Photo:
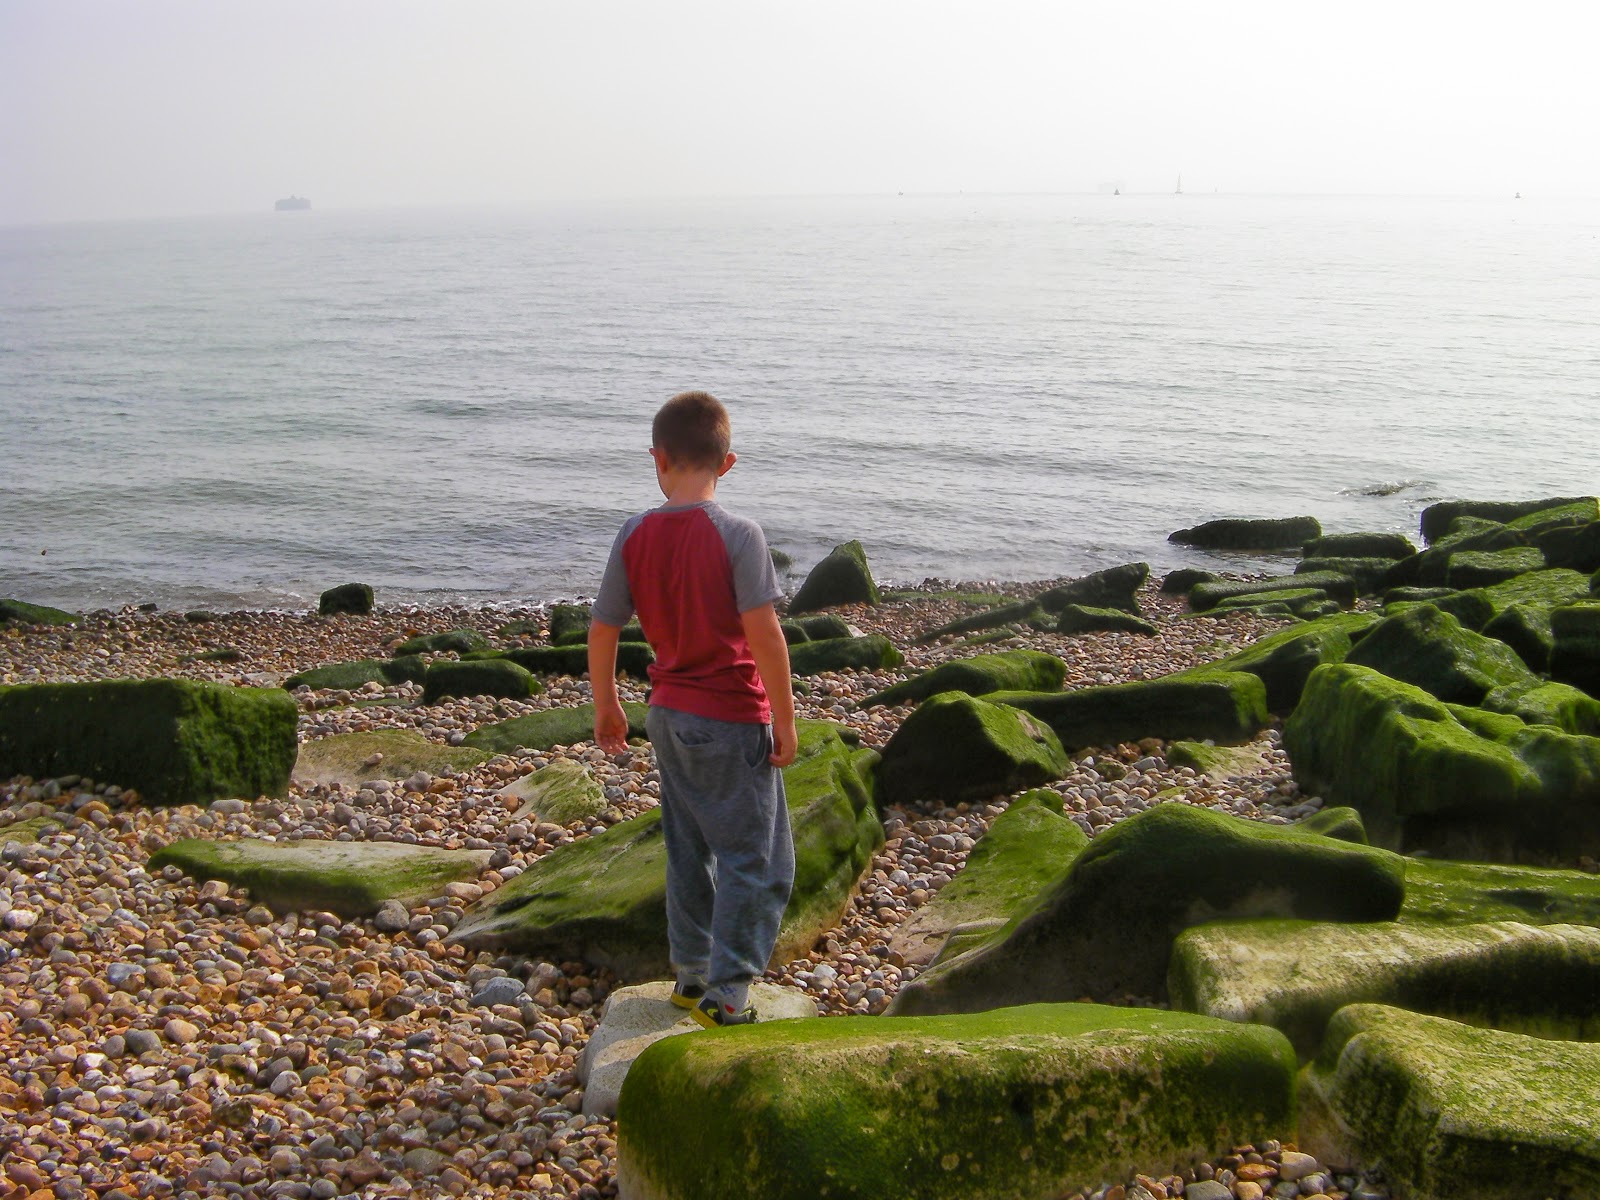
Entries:
{"type": "Polygon", "coordinates": [[[762,528],[715,501],[728,440],[728,411],[706,392],[656,413],[650,456],[667,502],[622,525],[589,626],[606,754],[627,749],[616,643],[635,611],[656,651],[645,728],[661,773],[672,1003],[707,1027],[755,1019],[750,979],[778,942],[795,866],[779,771],[795,757],[782,589],[762,528]]]}

